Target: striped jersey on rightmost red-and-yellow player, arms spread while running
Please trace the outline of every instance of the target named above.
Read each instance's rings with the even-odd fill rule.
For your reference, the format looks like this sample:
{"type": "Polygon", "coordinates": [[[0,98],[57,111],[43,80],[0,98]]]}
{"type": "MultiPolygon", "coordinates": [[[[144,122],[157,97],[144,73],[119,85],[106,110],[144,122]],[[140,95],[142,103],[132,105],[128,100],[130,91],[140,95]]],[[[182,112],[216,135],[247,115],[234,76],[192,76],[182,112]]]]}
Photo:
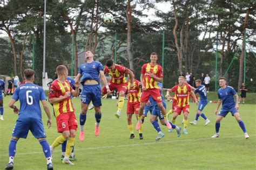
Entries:
{"type": "Polygon", "coordinates": [[[190,94],[191,91],[190,85],[185,83],[183,87],[180,87],[179,84],[170,89],[171,92],[175,92],[177,107],[185,107],[185,105],[190,105],[190,94]]]}

